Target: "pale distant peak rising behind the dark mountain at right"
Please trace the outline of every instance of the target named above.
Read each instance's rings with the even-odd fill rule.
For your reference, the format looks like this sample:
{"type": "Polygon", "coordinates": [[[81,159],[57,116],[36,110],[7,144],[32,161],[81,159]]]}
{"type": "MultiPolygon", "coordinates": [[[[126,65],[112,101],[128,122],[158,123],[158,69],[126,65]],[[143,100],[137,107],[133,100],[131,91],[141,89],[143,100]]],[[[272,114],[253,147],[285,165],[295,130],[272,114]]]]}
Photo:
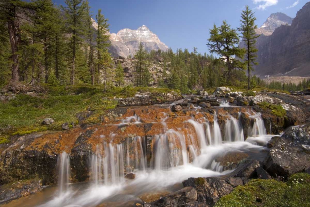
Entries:
{"type": "Polygon", "coordinates": [[[291,25],[294,18],[281,12],[271,14],[264,24],[256,29],[257,34],[271,35],[281,25],[291,25]]]}

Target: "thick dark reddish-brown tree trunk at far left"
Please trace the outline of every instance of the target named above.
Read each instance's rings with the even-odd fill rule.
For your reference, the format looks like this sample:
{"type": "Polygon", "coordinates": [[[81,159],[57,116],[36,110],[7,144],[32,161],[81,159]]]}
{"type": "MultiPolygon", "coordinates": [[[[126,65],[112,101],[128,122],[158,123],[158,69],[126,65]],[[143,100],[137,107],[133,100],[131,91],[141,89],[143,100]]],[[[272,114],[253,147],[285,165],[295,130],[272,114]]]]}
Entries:
{"type": "MultiPolygon", "coordinates": [[[[12,6],[13,7],[13,6],[12,6]]],[[[9,11],[9,18],[7,21],[7,27],[10,36],[11,50],[12,50],[12,78],[11,81],[18,82],[19,80],[19,62],[18,62],[18,43],[20,41],[20,34],[18,33],[19,24],[15,20],[15,7],[9,11]]]]}

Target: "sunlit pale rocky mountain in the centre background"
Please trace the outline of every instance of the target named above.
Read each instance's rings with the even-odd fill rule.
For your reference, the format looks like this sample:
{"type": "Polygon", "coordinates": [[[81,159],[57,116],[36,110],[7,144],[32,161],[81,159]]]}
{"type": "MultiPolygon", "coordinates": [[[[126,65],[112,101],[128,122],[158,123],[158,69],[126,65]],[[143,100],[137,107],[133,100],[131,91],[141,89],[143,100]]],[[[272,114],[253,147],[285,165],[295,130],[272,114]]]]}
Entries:
{"type": "Polygon", "coordinates": [[[158,49],[162,51],[168,50],[168,46],[162,43],[157,35],[145,25],[142,25],[137,30],[121,29],[116,34],[111,33],[110,41],[112,45],[109,47],[109,52],[115,57],[134,56],[140,42],[143,43],[147,52],[158,49]]]}

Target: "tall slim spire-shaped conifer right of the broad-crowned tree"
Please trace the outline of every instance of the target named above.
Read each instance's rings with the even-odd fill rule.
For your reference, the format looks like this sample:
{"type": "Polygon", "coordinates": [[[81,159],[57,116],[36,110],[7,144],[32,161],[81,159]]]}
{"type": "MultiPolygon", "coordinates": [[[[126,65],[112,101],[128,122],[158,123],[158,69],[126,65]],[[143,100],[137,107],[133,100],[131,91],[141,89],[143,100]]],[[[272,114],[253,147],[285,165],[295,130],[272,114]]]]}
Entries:
{"type": "Polygon", "coordinates": [[[238,30],[241,32],[242,41],[246,45],[245,63],[248,70],[248,90],[250,90],[250,71],[253,70],[253,65],[258,64],[256,62],[257,49],[255,43],[256,38],[260,35],[256,35],[255,29],[257,29],[257,25],[255,25],[255,20],[254,12],[249,9],[249,6],[246,6],[246,10],[241,13],[241,24],[238,30]]]}

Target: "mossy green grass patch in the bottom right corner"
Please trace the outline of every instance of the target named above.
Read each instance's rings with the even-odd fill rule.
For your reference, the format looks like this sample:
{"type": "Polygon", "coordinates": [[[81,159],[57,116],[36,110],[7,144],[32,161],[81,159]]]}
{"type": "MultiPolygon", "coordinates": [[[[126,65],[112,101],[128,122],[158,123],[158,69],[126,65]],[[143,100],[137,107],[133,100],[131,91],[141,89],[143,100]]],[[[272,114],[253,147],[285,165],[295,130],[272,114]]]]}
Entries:
{"type": "Polygon", "coordinates": [[[251,180],[222,197],[215,206],[310,206],[310,175],[297,173],[290,176],[286,183],[276,180],[251,180]]]}

